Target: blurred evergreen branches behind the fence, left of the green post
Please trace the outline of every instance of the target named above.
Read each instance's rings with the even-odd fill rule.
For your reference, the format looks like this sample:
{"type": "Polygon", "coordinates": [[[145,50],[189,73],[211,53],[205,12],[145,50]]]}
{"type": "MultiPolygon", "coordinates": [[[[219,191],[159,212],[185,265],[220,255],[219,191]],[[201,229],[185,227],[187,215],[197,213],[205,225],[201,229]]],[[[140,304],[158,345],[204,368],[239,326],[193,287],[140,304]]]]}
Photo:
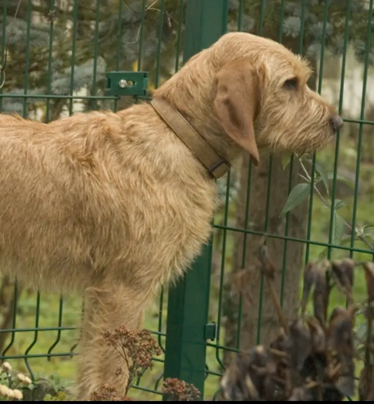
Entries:
{"type": "MultiPolygon", "coordinates": [[[[105,72],[133,70],[140,53],[140,67],[150,72],[153,83],[157,82],[158,53],[161,64],[157,73],[164,78],[173,73],[178,0],[165,1],[162,21],[157,4],[150,7],[151,1],[142,0],[40,0],[38,5],[20,0],[15,19],[18,0],[3,0],[0,4],[2,65],[7,45],[2,92],[24,94],[27,86],[28,95],[53,94],[55,97],[48,101],[50,116],[44,119],[58,118],[64,108],[72,111],[70,100],[56,98],[58,95],[82,89],[88,95],[104,95],[105,72]]],[[[89,109],[110,106],[103,101],[84,102],[89,109]]],[[[2,98],[2,112],[25,114],[36,107],[46,109],[46,100],[2,98]]]]}

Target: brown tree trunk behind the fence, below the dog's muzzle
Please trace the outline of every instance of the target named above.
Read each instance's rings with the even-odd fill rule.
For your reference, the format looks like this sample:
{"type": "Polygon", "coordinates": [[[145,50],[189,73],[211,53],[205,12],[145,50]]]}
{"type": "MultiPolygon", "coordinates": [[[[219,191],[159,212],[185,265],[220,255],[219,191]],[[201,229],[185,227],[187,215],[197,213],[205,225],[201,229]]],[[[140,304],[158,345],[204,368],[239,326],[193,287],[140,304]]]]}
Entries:
{"type": "MultiPolygon", "coordinates": [[[[286,44],[294,51],[297,44],[286,44]]],[[[309,86],[315,88],[315,77],[309,81],[309,86]]],[[[253,167],[250,181],[250,200],[248,212],[248,225],[256,232],[265,230],[266,200],[269,180],[269,155],[262,155],[257,168],[253,167]]],[[[246,197],[248,182],[248,156],[243,157],[241,164],[240,190],[236,215],[236,228],[245,228],[246,197]]],[[[292,187],[300,182],[298,173],[301,172],[299,162],[294,160],[292,174],[292,187]]],[[[273,156],[270,202],[267,233],[279,236],[285,235],[286,219],[279,217],[289,194],[290,167],[282,168],[281,156],[273,156]]],[[[288,236],[291,238],[305,239],[306,223],[308,217],[308,203],[304,201],[298,208],[292,210],[289,215],[288,236]]],[[[240,326],[240,350],[246,351],[257,344],[258,321],[261,293],[261,274],[257,262],[257,250],[262,241],[262,236],[248,234],[246,237],[246,259],[243,268],[243,233],[235,232],[232,276],[235,279],[238,274],[244,274],[241,281],[242,314],[240,326]]],[[[276,264],[275,283],[277,292],[281,292],[283,259],[286,253],[285,281],[283,311],[287,319],[292,319],[297,314],[299,301],[300,275],[303,268],[304,244],[301,242],[285,241],[282,239],[268,238],[267,246],[269,253],[276,264]],[[285,252],[286,251],[286,252],[285,252]]],[[[231,293],[224,300],[225,337],[224,345],[236,347],[238,332],[239,297],[237,294],[237,282],[227,285],[231,293]]],[[[260,343],[268,344],[278,333],[279,321],[269,296],[269,290],[264,282],[262,299],[262,313],[260,322],[260,343]]],[[[224,364],[227,365],[232,358],[232,353],[224,352],[224,364]]]]}

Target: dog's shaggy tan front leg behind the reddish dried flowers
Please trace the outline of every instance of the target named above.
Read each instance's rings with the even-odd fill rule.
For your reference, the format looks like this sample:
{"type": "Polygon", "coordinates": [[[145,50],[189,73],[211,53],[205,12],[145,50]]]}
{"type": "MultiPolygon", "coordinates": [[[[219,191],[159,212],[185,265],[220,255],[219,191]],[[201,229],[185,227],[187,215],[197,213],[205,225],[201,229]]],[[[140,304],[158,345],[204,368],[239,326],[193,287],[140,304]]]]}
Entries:
{"type": "Polygon", "coordinates": [[[122,394],[128,381],[123,357],[105,344],[103,333],[124,325],[138,330],[142,327],[151,291],[116,287],[111,290],[90,288],[85,293],[85,311],[78,354],[75,386],[76,400],[86,401],[90,394],[108,383],[122,394]],[[118,367],[122,373],[116,375],[118,367]]]}

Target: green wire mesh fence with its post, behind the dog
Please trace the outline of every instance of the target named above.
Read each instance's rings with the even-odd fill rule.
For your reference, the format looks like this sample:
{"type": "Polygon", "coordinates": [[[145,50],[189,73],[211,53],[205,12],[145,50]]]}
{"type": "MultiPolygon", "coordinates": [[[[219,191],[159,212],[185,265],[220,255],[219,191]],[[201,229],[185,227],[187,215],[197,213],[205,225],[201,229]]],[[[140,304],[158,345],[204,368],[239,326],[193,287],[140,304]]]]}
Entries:
{"type": "MultiPolygon", "coordinates": [[[[216,400],[231,354],[275,332],[264,280],[253,274],[254,251],[264,237],[276,255],[279,296],[290,316],[310,259],[373,259],[373,0],[1,4],[4,113],[50,122],[78,111],[117,111],[150,99],[150,93],[107,95],[106,73],[122,72],[126,79],[126,72],[148,72],[151,91],[198,50],[238,30],[270,37],[306,57],[315,72],[310,87],[345,118],[347,129],[317,155],[301,162],[297,156],[269,156],[258,169],[243,159],[219,180],[211,243],[148,313],[145,326],[163,354],[138,378],[135,397],[160,400],[168,376],[193,382],[204,389],[205,400],[216,400]],[[292,192],[299,192],[293,203],[292,192]],[[285,211],[286,202],[292,206],[285,211]]],[[[81,303],[79,296],[35,294],[3,277],[1,359],[15,361],[34,380],[53,373],[65,384],[74,380],[81,303]]]]}

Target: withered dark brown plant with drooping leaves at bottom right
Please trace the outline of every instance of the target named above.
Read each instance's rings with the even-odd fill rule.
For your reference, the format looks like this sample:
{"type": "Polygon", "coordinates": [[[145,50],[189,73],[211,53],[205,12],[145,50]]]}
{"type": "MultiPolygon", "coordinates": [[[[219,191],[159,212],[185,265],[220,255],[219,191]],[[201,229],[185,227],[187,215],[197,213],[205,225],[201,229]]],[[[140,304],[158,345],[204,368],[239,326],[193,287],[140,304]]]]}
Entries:
{"type": "MultiPolygon", "coordinates": [[[[358,305],[353,294],[355,261],[309,262],[304,271],[300,316],[290,319],[286,328],[285,316],[278,313],[283,330],[269,348],[259,350],[261,346],[255,346],[245,357],[236,356],[221,381],[224,398],[228,401],[343,401],[344,397],[355,393],[358,340],[358,344],[362,341],[361,351],[365,352],[359,396],[361,401],[373,401],[374,311],[370,304],[374,301],[374,264],[362,265],[368,296],[358,305]],[[329,307],[333,288],[346,296],[347,309],[329,307]],[[312,303],[310,315],[306,314],[308,302],[312,303]],[[364,337],[355,335],[355,318],[360,306],[367,323],[365,343],[364,337]]],[[[263,274],[272,280],[271,273],[264,271],[263,274]]],[[[169,382],[166,391],[170,390],[181,394],[183,385],[169,382]]]]}

